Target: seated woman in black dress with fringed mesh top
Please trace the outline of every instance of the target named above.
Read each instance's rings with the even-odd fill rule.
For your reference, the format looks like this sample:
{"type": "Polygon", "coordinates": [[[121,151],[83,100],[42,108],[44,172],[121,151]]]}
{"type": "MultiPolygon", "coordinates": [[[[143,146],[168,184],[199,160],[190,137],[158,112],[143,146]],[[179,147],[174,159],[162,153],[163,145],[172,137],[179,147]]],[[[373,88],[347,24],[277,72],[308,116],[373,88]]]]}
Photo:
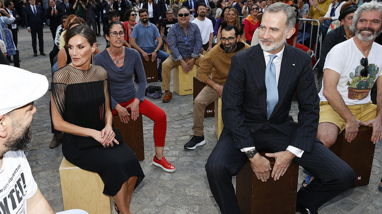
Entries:
{"type": "Polygon", "coordinates": [[[97,172],[103,193],[113,196],[120,213],[130,214],[131,195],[144,174],[135,153],[112,128],[107,72],[90,63],[95,33],[77,25],[68,31],[66,45],[72,63],[57,70],[51,83],[53,124],[64,132],[62,152],[72,164],[97,172]]]}

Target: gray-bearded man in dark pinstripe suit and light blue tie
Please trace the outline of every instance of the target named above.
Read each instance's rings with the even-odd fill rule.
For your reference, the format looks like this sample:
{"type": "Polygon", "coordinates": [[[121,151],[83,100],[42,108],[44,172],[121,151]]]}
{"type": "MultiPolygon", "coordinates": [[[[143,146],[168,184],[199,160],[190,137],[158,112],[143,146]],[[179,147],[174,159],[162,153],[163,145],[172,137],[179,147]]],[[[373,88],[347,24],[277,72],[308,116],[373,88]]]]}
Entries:
{"type": "Polygon", "coordinates": [[[310,56],[285,44],[295,32],[295,18],[287,4],[271,4],[263,14],[260,44],[232,57],[222,93],[224,128],[206,164],[211,192],[223,214],[240,214],[232,176],[248,161],[262,181],[279,179],[292,161],[311,171],[315,179],[297,193],[296,210],[302,214],[315,214],[354,184],[354,171],[315,138],[319,100],[310,56]],[[289,115],[295,91],[298,123],[289,115]],[[276,159],[273,169],[258,153],[264,150],[276,159]]]}

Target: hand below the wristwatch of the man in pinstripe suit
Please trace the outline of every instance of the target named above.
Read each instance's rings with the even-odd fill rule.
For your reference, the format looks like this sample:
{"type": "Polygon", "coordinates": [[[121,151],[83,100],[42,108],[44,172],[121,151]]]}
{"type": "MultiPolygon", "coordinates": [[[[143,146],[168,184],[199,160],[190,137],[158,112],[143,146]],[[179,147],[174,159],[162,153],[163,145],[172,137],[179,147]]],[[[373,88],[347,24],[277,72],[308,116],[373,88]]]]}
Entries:
{"type": "Polygon", "coordinates": [[[253,158],[249,158],[249,162],[257,179],[265,182],[269,178],[269,171],[272,170],[269,161],[259,153],[256,153],[253,158]]]}

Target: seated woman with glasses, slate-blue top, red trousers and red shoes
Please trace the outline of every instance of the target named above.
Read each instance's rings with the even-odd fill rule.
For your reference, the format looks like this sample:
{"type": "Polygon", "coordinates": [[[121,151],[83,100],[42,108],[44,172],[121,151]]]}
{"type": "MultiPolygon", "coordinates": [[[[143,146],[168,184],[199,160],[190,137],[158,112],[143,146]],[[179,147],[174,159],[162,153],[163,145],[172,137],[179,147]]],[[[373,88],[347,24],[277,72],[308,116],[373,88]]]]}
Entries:
{"type": "Polygon", "coordinates": [[[141,57],[137,50],[124,47],[125,29],[121,22],[111,22],[106,27],[106,39],[110,47],[97,54],[94,64],[103,66],[108,73],[113,116],[117,115],[121,122],[127,123],[131,110],[131,119],[136,120],[139,113],[154,121],[155,156],[153,164],[164,171],[173,172],[175,167],[163,156],[167,129],[166,113],[159,107],[144,99],[146,76],[141,57]],[[134,69],[137,71],[138,90],[133,81],[134,69]]]}

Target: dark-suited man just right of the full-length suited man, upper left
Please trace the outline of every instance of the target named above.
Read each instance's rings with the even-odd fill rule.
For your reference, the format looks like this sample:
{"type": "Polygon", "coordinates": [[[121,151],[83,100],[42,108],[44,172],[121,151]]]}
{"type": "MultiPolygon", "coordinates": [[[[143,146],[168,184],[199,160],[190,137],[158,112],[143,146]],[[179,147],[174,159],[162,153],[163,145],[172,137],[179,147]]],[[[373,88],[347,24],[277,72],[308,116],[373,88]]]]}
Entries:
{"type": "MultiPolygon", "coordinates": [[[[57,2],[61,3],[59,0],[57,2]]],[[[56,38],[57,27],[61,24],[61,17],[65,14],[65,8],[62,3],[60,5],[56,3],[56,0],[49,0],[50,7],[47,8],[47,15],[45,16],[50,20],[49,29],[52,33],[53,41],[56,38]]]]}

